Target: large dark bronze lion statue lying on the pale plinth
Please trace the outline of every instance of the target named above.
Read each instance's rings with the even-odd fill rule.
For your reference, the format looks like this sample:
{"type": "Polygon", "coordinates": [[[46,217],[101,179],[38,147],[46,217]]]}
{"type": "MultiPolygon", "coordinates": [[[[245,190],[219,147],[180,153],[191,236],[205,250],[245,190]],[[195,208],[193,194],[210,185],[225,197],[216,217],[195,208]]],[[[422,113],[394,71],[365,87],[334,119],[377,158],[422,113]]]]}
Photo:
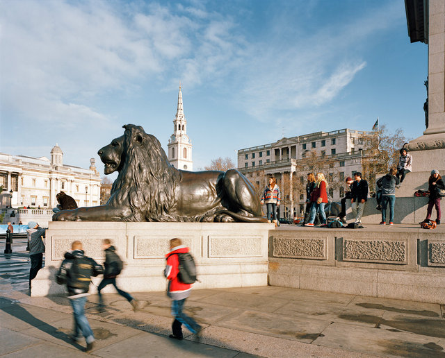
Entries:
{"type": "Polygon", "coordinates": [[[106,205],[54,214],[53,221],[267,222],[252,184],[235,169],[175,169],[159,140],[127,124],[124,135],[97,153],[104,173],[118,171],[106,205]]]}

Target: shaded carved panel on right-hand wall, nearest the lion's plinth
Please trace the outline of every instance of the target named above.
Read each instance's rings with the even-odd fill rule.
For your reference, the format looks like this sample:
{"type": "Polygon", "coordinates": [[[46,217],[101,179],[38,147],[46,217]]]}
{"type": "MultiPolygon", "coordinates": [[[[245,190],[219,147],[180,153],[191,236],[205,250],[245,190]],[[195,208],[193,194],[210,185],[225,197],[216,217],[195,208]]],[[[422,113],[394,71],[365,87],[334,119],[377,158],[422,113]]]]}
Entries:
{"type": "Polygon", "coordinates": [[[327,259],[327,237],[300,239],[294,237],[275,237],[273,256],[294,259],[327,259]]]}

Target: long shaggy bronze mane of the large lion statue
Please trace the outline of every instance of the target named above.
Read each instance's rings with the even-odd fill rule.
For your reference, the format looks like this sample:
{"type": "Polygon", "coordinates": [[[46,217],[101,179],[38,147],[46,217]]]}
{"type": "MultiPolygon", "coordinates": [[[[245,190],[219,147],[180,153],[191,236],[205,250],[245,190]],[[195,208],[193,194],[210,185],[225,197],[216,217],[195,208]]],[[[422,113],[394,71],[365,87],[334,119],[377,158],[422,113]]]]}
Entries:
{"type": "Polygon", "coordinates": [[[123,126],[121,169],[107,205],[129,205],[123,221],[184,221],[175,212],[175,187],[181,172],[168,162],[161,143],[142,127],[123,126]]]}

